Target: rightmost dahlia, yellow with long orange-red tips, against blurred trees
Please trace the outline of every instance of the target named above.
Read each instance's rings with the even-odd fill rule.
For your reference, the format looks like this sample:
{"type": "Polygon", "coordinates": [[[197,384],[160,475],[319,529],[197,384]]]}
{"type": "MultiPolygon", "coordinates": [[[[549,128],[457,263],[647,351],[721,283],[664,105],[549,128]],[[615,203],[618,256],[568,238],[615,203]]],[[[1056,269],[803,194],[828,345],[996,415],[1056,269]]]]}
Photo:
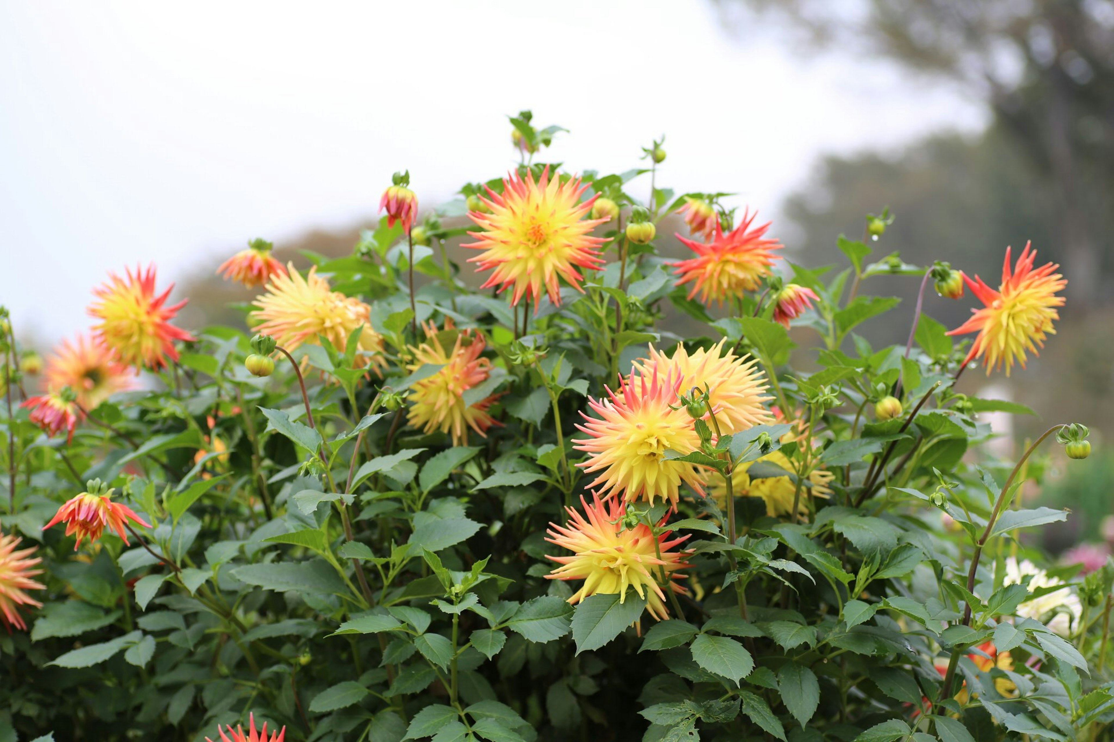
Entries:
{"type": "Polygon", "coordinates": [[[1027,243],[1016,267],[1010,271],[1009,251],[1006,247],[998,291],[986,285],[977,275],[971,281],[964,274],[971,293],[986,306],[971,310],[974,316],[948,333],[961,335],[978,332],[964,363],[985,357],[987,375],[990,369],[1000,369],[1003,363],[1006,364],[1007,377],[1015,361],[1024,369],[1026,350],[1039,355],[1037,348],[1044,348],[1045,336],[1056,334],[1052,326],[1053,320],[1059,319],[1056,307],[1064,305],[1064,297],[1056,295],[1067,285],[1067,281],[1055,272],[1059,266],[1045,263],[1034,270],[1037,251],[1027,243]]]}

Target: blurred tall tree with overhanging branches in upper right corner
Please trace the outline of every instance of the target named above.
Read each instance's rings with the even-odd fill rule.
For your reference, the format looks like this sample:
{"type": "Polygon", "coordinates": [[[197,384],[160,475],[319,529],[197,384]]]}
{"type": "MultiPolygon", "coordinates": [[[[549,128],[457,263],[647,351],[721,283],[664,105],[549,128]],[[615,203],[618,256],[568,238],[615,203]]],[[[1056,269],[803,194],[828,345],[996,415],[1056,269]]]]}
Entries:
{"type": "Polygon", "coordinates": [[[1110,299],[1114,0],[741,1],[815,42],[881,55],[985,100],[1008,150],[1047,183],[1042,207],[1073,306],[1110,299]]]}

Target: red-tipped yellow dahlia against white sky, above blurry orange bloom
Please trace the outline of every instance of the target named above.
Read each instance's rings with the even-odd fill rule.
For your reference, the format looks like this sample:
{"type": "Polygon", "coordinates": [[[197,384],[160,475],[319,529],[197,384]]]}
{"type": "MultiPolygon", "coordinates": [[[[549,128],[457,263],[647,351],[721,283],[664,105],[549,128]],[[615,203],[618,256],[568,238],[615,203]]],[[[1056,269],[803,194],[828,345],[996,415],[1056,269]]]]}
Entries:
{"type": "Polygon", "coordinates": [[[186,301],[170,306],[166,300],[174,284],[162,294],[155,294],[155,266],[144,272],[127,270],[127,280],[115,273],[108,274],[108,282],[94,289],[97,300],[89,306],[89,314],[99,319],[94,325],[96,335],[116,354],[118,361],[152,370],[166,365],[166,359],[178,360],[175,340],[192,341],[194,336],[175,328],[170,320],[186,301]]]}

